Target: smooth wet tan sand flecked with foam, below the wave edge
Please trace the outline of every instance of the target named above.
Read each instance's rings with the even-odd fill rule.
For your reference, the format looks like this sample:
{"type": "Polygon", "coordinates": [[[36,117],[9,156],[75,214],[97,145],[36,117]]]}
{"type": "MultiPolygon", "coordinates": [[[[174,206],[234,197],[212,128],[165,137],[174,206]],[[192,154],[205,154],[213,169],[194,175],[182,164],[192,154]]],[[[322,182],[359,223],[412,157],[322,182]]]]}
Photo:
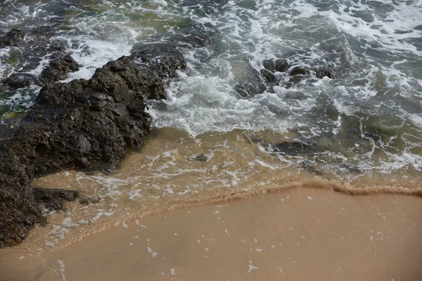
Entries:
{"type": "Polygon", "coordinates": [[[422,280],[422,199],[301,188],[0,250],[0,280],[422,280]]]}

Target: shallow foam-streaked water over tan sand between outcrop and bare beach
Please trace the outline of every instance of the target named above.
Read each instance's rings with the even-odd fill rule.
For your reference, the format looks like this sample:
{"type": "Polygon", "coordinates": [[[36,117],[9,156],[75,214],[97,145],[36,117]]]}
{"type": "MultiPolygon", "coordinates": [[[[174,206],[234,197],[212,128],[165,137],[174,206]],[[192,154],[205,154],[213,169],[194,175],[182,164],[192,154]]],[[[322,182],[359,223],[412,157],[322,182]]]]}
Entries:
{"type": "Polygon", "coordinates": [[[49,251],[129,219],[291,188],[422,194],[418,171],[376,174],[347,169],[335,159],[314,166],[304,161],[300,150],[298,155],[267,150],[269,143],[290,138],[294,136],[248,131],[191,138],[183,131],[155,129],[142,150],[124,159],[117,171],[63,171],[37,179],[35,186],[81,190],[98,202],[69,203],[68,211],[51,214],[49,224],[37,226],[18,247],[49,251]]]}

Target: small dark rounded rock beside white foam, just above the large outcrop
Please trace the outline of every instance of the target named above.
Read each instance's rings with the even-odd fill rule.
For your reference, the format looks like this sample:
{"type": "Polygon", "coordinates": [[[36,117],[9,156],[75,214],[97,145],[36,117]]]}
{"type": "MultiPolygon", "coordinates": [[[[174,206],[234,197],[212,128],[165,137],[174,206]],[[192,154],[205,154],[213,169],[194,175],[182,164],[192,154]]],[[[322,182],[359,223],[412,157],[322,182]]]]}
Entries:
{"type": "Polygon", "coordinates": [[[68,78],[70,72],[79,70],[79,64],[70,56],[64,55],[51,60],[49,66],[41,72],[41,79],[45,84],[68,78]]]}

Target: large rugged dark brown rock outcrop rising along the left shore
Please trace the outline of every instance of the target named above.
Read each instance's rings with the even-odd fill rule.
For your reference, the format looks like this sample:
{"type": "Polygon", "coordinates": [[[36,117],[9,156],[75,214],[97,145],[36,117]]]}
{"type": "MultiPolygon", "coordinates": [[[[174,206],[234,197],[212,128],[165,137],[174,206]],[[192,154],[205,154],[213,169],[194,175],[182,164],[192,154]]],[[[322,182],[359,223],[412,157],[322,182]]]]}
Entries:
{"type": "Polygon", "coordinates": [[[32,189],[34,176],[60,169],[115,169],[150,129],[146,100],[165,98],[167,79],[185,70],[172,45],[141,46],[77,79],[41,89],[12,138],[0,148],[0,247],[25,239],[44,220],[42,207],[63,209],[77,192],[32,189]]]}

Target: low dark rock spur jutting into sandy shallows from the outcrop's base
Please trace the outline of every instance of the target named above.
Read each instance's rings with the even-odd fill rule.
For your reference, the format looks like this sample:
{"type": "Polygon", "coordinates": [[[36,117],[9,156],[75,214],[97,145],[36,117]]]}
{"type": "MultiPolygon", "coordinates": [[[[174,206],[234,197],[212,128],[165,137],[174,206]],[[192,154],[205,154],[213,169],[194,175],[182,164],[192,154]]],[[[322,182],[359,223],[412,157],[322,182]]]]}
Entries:
{"type": "Polygon", "coordinates": [[[72,202],[79,197],[78,190],[63,188],[32,188],[34,200],[42,204],[49,211],[67,211],[65,201],[72,202]]]}

